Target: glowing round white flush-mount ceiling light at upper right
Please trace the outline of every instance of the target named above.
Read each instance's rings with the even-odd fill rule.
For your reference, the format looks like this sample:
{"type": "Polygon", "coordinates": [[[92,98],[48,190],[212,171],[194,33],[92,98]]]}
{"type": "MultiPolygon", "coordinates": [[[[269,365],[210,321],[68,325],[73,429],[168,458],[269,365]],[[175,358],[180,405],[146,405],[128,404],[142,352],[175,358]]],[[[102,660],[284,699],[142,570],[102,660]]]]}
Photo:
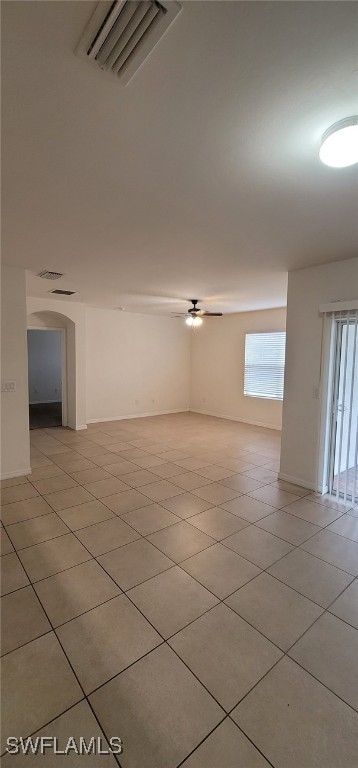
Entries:
{"type": "Polygon", "coordinates": [[[358,115],[331,125],[322,136],[320,159],[332,168],[358,163],[358,115]]]}

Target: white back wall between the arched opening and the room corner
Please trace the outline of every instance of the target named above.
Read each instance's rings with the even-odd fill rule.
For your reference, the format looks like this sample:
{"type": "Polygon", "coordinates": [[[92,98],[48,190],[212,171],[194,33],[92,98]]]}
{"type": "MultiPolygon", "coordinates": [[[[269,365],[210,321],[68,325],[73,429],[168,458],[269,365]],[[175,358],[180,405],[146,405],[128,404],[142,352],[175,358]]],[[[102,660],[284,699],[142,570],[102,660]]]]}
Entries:
{"type": "Polygon", "coordinates": [[[190,329],[180,320],[86,308],[87,422],[189,408],[190,329]]]}

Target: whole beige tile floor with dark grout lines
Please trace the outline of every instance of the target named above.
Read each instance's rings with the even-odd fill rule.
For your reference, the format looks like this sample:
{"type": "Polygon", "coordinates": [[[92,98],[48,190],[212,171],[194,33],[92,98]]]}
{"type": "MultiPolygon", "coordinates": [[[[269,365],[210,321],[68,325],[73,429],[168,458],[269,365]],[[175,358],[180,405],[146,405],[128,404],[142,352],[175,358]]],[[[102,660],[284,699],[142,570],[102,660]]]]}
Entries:
{"type": "MultiPolygon", "coordinates": [[[[227,420],[31,442],[2,483],[4,739],[123,739],[69,768],[356,768],[357,511],[277,480],[279,433],[227,420]]],[[[24,763],[59,761],[4,757],[24,763]]]]}

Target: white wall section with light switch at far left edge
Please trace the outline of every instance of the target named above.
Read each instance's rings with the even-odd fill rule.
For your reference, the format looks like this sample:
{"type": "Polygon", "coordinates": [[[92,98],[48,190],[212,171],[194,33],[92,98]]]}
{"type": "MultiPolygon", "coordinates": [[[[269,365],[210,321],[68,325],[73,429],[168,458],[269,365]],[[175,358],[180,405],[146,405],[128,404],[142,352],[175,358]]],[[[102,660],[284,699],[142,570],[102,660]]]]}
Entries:
{"type": "Polygon", "coordinates": [[[30,471],[27,389],[25,272],[2,266],[1,380],[15,381],[14,392],[1,393],[1,477],[30,471]]]}

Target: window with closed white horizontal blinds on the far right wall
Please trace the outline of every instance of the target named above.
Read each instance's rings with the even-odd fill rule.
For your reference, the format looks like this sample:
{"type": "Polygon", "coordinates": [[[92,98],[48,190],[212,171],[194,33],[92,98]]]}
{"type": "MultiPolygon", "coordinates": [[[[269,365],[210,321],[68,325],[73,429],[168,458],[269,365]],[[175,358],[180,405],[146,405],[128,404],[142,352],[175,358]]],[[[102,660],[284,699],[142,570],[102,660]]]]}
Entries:
{"type": "Polygon", "coordinates": [[[247,333],[244,395],[283,399],[286,333],[247,333]]]}

